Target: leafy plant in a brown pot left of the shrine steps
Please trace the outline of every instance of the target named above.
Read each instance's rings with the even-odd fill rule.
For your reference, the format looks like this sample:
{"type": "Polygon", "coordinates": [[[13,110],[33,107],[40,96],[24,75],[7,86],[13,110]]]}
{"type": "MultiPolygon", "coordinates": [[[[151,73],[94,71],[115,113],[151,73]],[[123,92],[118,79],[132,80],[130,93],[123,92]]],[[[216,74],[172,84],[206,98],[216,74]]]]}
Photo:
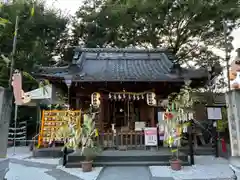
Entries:
{"type": "Polygon", "coordinates": [[[92,171],[93,159],[100,152],[100,148],[98,148],[94,142],[97,133],[94,118],[95,113],[84,115],[84,121],[80,135],[81,154],[85,157],[85,160],[82,161],[83,172],[92,171]]]}

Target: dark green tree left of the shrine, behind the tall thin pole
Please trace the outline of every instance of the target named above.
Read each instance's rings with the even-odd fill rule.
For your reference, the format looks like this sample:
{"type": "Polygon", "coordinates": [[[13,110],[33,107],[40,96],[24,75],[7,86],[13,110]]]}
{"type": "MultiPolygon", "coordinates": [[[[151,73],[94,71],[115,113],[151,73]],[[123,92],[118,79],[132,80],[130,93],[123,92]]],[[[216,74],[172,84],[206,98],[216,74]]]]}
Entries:
{"type": "MultiPolygon", "coordinates": [[[[10,58],[14,37],[16,15],[19,16],[15,68],[31,73],[36,65],[49,66],[56,63],[57,47],[66,30],[68,19],[57,9],[49,9],[40,1],[13,1],[2,5],[0,17],[10,23],[0,27],[0,54],[10,58]],[[34,3],[34,4],[33,4],[34,3]],[[34,7],[34,8],[33,8],[34,7]]],[[[0,86],[6,87],[9,67],[0,61],[0,86]]],[[[33,88],[31,80],[24,80],[24,88],[33,88]]]]}

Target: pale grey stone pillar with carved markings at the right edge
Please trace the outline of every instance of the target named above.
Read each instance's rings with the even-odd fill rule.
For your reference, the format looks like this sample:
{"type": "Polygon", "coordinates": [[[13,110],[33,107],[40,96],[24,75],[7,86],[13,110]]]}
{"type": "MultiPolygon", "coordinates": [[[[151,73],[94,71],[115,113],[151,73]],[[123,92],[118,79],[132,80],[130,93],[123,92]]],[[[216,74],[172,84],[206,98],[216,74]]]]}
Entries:
{"type": "Polygon", "coordinates": [[[226,93],[231,156],[240,156],[240,90],[226,93]]]}

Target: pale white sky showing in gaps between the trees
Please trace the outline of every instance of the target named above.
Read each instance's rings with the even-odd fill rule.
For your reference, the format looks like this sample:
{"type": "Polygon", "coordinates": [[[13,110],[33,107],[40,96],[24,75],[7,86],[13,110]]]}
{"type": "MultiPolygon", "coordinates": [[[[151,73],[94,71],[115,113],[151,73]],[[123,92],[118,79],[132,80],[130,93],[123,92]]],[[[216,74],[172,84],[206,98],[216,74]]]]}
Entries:
{"type": "MultiPolygon", "coordinates": [[[[49,6],[54,6],[63,10],[65,13],[69,13],[74,15],[74,13],[78,10],[79,6],[83,3],[83,0],[46,0],[49,6]]],[[[234,30],[232,32],[232,36],[234,37],[233,47],[234,49],[240,48],[240,29],[234,30]]],[[[214,52],[224,57],[225,53],[219,49],[214,49],[214,52]]],[[[232,51],[232,57],[235,57],[235,50],[232,51]]]]}

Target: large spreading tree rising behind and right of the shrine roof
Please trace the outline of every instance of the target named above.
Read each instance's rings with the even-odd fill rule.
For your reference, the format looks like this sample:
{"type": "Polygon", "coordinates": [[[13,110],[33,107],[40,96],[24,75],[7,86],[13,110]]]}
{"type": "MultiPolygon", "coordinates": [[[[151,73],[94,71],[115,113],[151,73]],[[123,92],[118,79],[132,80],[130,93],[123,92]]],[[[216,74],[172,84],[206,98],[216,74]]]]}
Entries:
{"type": "Polygon", "coordinates": [[[224,48],[223,18],[228,36],[239,27],[237,5],[238,0],[86,1],[76,13],[72,44],[165,47],[181,64],[212,65],[221,58],[209,47],[224,48]]]}

